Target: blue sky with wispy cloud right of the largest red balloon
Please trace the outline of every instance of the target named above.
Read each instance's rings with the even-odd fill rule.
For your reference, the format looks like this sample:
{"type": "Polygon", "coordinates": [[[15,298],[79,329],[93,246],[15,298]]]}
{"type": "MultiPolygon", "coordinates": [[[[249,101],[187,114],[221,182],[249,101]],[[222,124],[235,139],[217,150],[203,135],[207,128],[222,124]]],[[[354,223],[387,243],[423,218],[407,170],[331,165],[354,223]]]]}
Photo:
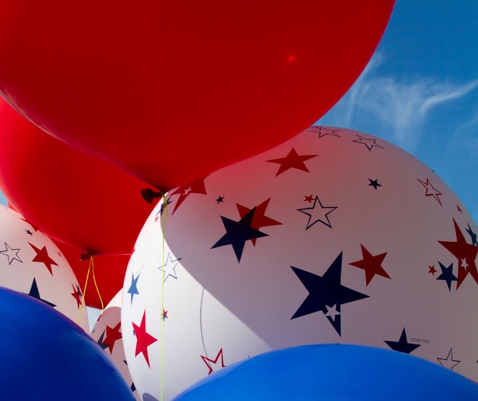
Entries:
{"type": "Polygon", "coordinates": [[[410,152],[478,222],[478,3],[397,0],[368,67],[319,124],[410,152]]]}

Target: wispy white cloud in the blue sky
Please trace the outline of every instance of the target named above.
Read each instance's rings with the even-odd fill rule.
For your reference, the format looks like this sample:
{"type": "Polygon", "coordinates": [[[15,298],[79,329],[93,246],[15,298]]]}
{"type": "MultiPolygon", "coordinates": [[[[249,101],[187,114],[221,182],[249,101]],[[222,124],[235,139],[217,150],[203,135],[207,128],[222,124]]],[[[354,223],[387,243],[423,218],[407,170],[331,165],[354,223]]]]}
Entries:
{"type": "Polygon", "coordinates": [[[382,62],[383,56],[376,54],[331,113],[340,116],[339,125],[350,127],[361,114],[371,112],[393,133],[397,144],[409,150],[416,146],[423,124],[434,109],[478,87],[478,79],[464,84],[441,83],[431,78],[399,82],[394,77],[377,74],[382,62]]]}

